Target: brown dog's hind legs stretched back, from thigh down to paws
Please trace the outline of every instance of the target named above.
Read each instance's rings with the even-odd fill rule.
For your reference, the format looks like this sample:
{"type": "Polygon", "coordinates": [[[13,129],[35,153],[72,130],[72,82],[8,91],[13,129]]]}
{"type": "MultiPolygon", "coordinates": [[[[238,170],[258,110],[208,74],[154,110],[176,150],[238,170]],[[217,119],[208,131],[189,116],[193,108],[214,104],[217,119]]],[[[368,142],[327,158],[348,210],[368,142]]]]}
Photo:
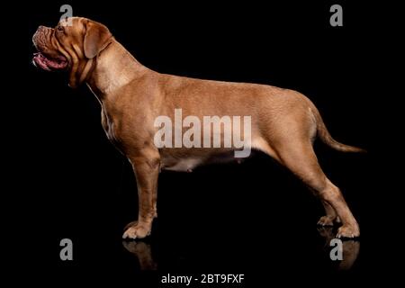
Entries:
{"type": "Polygon", "coordinates": [[[289,168],[304,184],[315,191],[322,202],[325,202],[328,219],[342,221],[338,229],[338,238],[355,238],[360,229],[352,212],[347,206],[339,188],[332,184],[323,173],[313,151],[311,141],[283,141],[283,145],[275,147],[275,153],[281,164],[289,168]]]}

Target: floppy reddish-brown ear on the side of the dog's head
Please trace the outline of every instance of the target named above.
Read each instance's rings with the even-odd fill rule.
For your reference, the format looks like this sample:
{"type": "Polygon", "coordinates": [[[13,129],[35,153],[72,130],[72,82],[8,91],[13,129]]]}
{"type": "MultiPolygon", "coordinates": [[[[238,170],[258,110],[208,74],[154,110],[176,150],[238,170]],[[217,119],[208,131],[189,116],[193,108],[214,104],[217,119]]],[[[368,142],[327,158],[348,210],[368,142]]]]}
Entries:
{"type": "Polygon", "coordinates": [[[94,58],[107,46],[111,38],[112,33],[102,23],[89,21],[85,25],[85,40],[83,42],[85,57],[94,58]]]}

